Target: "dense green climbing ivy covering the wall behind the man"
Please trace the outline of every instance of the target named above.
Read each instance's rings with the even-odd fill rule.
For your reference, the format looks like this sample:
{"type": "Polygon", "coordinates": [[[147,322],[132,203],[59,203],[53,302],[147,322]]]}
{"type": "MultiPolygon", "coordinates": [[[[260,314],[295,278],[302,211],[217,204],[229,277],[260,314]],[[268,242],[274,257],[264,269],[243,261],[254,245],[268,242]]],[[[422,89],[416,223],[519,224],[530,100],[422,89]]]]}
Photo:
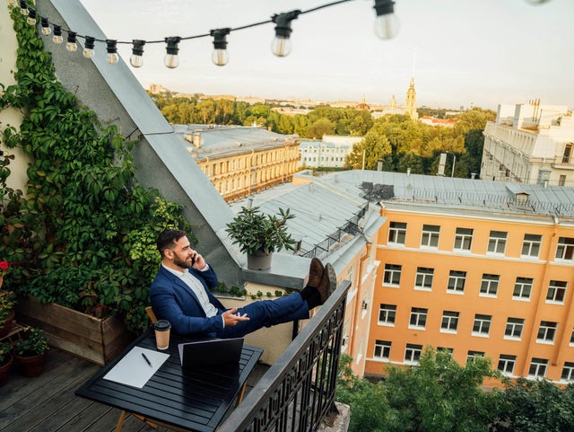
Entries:
{"type": "Polygon", "coordinates": [[[18,10],[11,11],[17,84],[0,84],[0,110],[12,107],[24,118],[19,130],[1,125],[0,133],[30,165],[22,194],[5,184],[13,156],[0,163],[0,257],[20,263],[9,284],[45,303],[120,314],[128,329],[142,331],[160,262],[157,234],[178,227],[195,237],[178,204],[139,185],[130,153],[136,143],[102,125],[57,80],[50,53],[18,10]]]}

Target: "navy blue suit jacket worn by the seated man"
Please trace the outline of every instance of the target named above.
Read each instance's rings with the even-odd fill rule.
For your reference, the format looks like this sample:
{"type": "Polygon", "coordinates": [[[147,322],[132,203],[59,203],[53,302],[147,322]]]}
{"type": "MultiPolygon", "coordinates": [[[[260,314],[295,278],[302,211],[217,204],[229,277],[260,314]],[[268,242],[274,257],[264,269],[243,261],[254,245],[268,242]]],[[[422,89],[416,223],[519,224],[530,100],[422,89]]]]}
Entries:
{"type": "MultiPolygon", "coordinates": [[[[225,306],[211,293],[211,289],[217,285],[217,275],[211,266],[205,271],[192,268],[189,272],[202,283],[210,302],[220,313],[224,312],[225,306]]],[[[153,313],[159,320],[168,320],[171,331],[175,333],[214,336],[215,332],[223,329],[222,317],[219,314],[206,317],[196,294],[163,266],[153,279],[150,300],[153,313]]]]}

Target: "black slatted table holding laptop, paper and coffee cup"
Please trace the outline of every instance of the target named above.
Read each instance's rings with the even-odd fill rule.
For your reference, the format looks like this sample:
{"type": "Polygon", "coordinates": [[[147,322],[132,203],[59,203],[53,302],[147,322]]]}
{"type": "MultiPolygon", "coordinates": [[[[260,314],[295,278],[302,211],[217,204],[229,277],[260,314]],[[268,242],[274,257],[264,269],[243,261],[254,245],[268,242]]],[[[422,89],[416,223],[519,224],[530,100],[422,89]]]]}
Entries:
{"type": "Polygon", "coordinates": [[[238,365],[182,369],[178,343],[190,340],[171,335],[170,348],[165,351],[170,358],[141,389],[103,379],[135,346],[156,349],[155,336],[150,329],[102,367],[76,390],[75,395],[126,411],[120,415],[117,432],[123,426],[126,413],[175,430],[213,432],[234,401],[242,395],[248,376],[257,365],[263,349],[244,345],[238,365]]]}

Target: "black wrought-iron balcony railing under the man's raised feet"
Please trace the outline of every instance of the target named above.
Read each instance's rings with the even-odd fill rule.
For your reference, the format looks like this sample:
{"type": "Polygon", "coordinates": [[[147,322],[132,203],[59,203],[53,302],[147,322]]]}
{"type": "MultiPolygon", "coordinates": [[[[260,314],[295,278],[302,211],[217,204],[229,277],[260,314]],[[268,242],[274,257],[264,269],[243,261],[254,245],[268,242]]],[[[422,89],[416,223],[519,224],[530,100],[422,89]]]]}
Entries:
{"type": "Polygon", "coordinates": [[[335,413],[349,287],[339,284],[218,432],[314,432],[335,413]]]}

